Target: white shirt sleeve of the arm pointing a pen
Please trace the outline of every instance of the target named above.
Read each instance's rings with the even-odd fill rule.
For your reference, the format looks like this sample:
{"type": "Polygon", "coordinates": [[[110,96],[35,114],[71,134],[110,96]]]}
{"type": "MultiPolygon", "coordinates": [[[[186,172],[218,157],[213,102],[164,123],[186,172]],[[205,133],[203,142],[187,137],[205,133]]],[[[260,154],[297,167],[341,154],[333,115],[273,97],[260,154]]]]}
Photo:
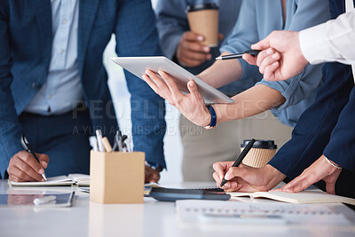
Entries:
{"type": "Polygon", "coordinates": [[[304,58],[311,64],[331,61],[355,64],[355,12],[302,30],[299,41],[304,58]]]}

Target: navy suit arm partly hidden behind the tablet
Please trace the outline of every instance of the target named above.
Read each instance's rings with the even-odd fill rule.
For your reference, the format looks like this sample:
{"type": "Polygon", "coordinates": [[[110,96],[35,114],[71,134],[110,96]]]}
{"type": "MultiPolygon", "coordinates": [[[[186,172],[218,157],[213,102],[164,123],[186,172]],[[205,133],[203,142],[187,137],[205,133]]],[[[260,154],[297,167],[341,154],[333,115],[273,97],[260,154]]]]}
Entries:
{"type": "MultiPolygon", "coordinates": [[[[149,0],[124,0],[119,6],[116,52],[119,56],[162,55],[149,0]]],[[[146,83],[125,72],[131,93],[134,150],[146,153],[146,161],[166,167],[162,139],[165,134],[164,100],[146,83]]],[[[150,181],[150,180],[147,180],[150,181]]]]}

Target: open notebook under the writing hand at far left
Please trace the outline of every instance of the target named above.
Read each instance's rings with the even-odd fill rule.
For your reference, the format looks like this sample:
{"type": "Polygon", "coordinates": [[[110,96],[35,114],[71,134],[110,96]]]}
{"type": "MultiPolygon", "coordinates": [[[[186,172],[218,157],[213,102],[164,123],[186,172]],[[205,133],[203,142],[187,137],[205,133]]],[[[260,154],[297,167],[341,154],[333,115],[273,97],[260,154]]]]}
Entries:
{"type": "Polygon", "coordinates": [[[10,186],[90,186],[90,176],[83,174],[69,174],[68,176],[56,176],[47,178],[44,182],[13,182],[10,186]]]}

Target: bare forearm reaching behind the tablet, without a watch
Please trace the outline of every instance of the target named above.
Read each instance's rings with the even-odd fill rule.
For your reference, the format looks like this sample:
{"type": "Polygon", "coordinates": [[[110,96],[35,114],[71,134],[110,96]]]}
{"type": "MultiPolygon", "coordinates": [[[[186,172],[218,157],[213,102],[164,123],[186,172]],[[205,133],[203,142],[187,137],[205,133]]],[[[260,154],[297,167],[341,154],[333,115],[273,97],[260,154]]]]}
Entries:
{"type": "MultiPolygon", "coordinates": [[[[230,54],[224,51],[222,55],[230,54]]],[[[200,75],[204,82],[215,88],[224,86],[238,80],[242,75],[241,63],[238,59],[217,60],[211,67],[207,68],[200,75]]]]}

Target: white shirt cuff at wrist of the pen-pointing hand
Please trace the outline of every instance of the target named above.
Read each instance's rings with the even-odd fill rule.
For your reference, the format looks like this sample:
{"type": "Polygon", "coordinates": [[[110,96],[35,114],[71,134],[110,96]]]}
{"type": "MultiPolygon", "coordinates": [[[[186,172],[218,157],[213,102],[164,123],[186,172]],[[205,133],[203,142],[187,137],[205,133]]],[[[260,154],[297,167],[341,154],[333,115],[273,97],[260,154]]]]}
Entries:
{"type": "Polygon", "coordinates": [[[332,56],[327,36],[327,23],[300,31],[299,43],[304,58],[311,64],[323,63],[324,59],[332,56]]]}

